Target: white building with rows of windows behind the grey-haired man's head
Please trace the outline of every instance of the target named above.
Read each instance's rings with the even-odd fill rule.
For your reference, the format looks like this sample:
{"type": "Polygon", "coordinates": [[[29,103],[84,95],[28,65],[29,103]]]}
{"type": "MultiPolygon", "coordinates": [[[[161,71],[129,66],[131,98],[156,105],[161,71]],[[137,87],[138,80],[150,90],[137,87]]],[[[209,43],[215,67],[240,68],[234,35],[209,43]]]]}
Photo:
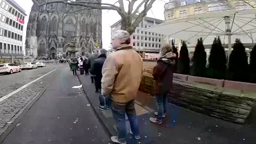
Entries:
{"type": "MultiPolygon", "coordinates": [[[[163,39],[163,35],[149,33],[143,29],[158,25],[163,22],[163,20],[145,17],[143,18],[142,22],[139,23],[139,26],[134,30],[134,33],[131,35],[131,46],[133,46],[133,49],[137,51],[143,58],[158,58],[163,39]],[[150,55],[150,57],[148,57],[148,55],[150,55]]],[[[121,20],[117,21],[114,23],[114,25],[111,26],[111,37],[114,35],[116,30],[120,29],[121,20]]]]}

